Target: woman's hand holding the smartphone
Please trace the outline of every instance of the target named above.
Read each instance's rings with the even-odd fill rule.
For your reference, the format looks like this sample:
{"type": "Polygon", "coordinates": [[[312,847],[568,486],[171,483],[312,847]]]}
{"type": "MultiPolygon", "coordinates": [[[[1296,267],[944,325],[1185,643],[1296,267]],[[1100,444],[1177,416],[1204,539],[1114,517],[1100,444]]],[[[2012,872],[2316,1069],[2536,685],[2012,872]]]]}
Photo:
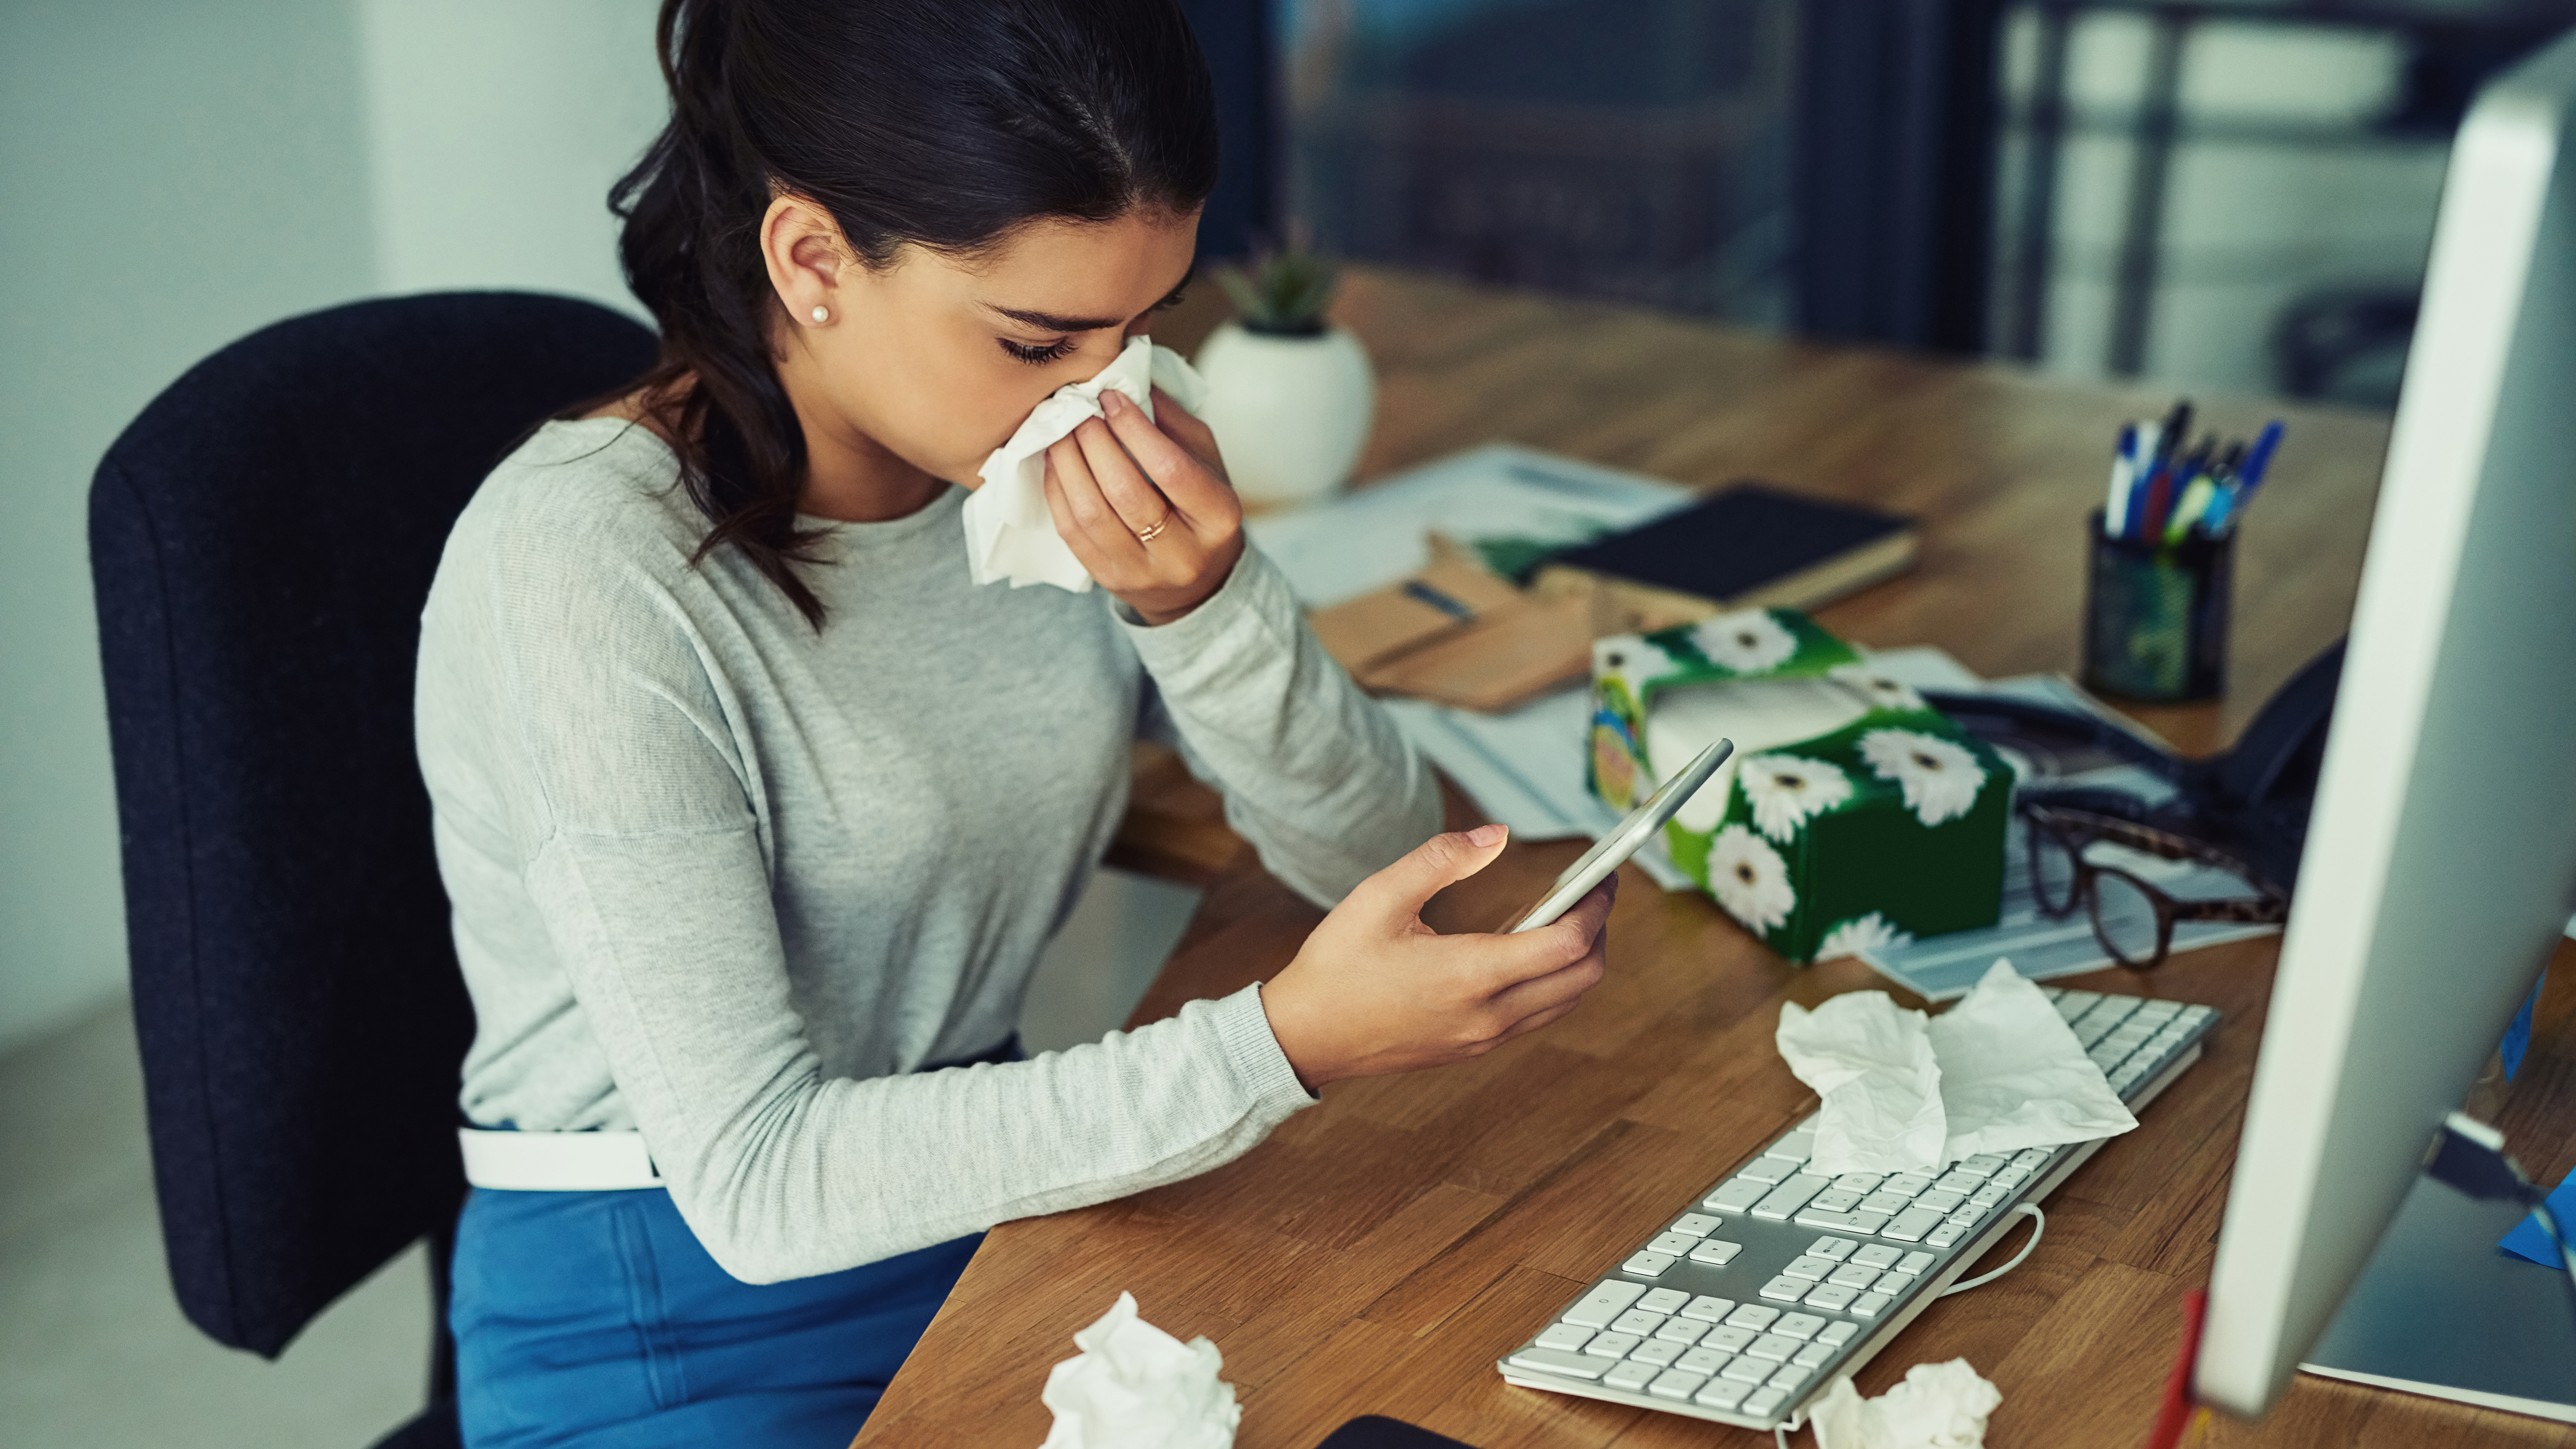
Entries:
{"type": "Polygon", "coordinates": [[[1618,877],[1553,926],[1520,936],[1443,936],[1422,905],[1502,853],[1507,830],[1432,835],[1360,882],[1262,985],[1270,1034],[1306,1091],[1466,1062],[1574,1011],[1602,980],[1618,877]]]}

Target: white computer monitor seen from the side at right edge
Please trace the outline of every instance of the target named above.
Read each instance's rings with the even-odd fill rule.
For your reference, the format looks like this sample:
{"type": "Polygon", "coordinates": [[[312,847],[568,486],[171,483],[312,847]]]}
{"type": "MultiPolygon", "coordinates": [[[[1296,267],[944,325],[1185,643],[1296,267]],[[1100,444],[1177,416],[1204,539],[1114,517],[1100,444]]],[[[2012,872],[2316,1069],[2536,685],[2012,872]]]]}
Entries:
{"type": "MultiPolygon", "coordinates": [[[[2452,144],[2195,1392],[2257,1415],[2576,895],[2576,36],[2452,144]]],[[[2537,1269],[2535,1269],[2537,1271],[2537,1269]]]]}

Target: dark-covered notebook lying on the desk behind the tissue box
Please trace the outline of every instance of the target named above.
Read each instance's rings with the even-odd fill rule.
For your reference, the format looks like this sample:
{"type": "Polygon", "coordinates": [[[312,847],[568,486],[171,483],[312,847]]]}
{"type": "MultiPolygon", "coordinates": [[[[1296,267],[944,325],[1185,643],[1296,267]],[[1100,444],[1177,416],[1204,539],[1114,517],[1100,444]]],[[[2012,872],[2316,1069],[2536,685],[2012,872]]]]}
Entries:
{"type": "Polygon", "coordinates": [[[1620,614],[1703,619],[1728,608],[1816,608],[1914,567],[1914,521],[1759,482],[1731,485],[1651,523],[1553,554],[1535,590],[1600,588],[1620,614]]]}

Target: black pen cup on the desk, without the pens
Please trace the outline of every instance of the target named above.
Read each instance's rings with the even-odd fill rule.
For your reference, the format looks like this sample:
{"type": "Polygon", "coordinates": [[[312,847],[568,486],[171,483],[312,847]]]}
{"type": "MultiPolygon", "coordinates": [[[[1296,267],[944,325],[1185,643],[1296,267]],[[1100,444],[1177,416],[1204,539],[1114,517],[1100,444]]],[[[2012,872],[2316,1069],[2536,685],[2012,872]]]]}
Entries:
{"type": "Polygon", "coordinates": [[[2146,704],[2215,699],[2226,686],[2236,531],[2179,544],[2084,536],[2084,688],[2146,704]]]}

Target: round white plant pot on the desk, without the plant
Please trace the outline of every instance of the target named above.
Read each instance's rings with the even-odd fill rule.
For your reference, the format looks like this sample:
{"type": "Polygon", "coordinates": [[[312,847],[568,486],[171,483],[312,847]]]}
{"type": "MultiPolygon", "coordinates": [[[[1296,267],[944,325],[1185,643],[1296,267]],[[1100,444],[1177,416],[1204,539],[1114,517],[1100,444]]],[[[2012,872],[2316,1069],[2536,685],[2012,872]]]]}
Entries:
{"type": "Polygon", "coordinates": [[[1298,503],[1350,482],[1378,410],[1360,338],[1275,338],[1226,322],[1198,348],[1203,418],[1247,503],[1298,503]]]}

